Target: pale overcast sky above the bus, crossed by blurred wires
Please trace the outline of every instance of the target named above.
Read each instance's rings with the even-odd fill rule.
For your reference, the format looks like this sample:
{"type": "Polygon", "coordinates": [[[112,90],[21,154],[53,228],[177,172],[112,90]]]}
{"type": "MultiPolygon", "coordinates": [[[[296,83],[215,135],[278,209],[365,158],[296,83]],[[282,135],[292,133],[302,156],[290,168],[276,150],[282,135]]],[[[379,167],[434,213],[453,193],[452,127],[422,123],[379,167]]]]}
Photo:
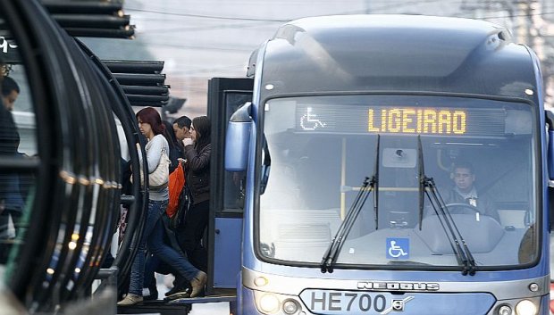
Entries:
{"type": "Polygon", "coordinates": [[[244,77],[251,52],[286,21],[327,14],[413,13],[480,18],[511,28],[512,19],[506,16],[514,8],[502,5],[506,2],[126,0],[123,9],[136,26],[135,39],[85,40],[103,59],[164,61],[171,94],[188,99],[180,113],[196,116],[206,113],[207,79],[244,77]]]}

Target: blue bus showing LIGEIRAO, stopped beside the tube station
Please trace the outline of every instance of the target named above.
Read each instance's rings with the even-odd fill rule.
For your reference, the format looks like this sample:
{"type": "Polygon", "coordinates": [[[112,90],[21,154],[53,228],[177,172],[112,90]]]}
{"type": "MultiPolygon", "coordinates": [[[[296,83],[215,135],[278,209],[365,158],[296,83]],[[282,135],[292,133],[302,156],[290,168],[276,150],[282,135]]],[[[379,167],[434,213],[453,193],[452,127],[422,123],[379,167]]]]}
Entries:
{"type": "Polygon", "coordinates": [[[237,271],[239,314],[548,314],[553,124],[507,29],[291,21],[210,95],[212,285],[237,271]]]}

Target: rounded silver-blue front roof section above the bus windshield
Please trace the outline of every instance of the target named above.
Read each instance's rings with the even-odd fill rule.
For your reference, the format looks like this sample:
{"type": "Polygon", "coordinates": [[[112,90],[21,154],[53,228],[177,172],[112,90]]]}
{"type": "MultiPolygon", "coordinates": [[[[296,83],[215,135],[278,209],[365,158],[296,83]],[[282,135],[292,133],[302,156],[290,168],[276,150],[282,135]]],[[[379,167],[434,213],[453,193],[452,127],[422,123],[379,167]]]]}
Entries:
{"type": "Polygon", "coordinates": [[[514,44],[507,29],[486,21],[313,17],[284,24],[265,45],[259,50],[264,51],[262,86],[273,89],[264,90],[264,96],[438,92],[528,98],[525,89],[536,92],[528,48],[514,44]]]}

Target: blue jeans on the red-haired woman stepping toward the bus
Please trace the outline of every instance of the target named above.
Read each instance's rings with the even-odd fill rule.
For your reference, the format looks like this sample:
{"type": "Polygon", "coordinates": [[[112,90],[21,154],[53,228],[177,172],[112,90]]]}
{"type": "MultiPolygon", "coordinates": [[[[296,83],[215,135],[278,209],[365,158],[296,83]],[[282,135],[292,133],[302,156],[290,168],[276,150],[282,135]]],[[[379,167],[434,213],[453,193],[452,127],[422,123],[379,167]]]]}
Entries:
{"type": "Polygon", "coordinates": [[[198,274],[199,270],[194,268],[185,257],[177,253],[171,246],[164,244],[164,224],[161,217],[165,208],[167,208],[167,200],[150,200],[148,202],[147,221],[139,244],[139,251],[130,269],[130,294],[142,295],[147,246],[150,253],[172,266],[184,278],[191,280],[198,274]]]}

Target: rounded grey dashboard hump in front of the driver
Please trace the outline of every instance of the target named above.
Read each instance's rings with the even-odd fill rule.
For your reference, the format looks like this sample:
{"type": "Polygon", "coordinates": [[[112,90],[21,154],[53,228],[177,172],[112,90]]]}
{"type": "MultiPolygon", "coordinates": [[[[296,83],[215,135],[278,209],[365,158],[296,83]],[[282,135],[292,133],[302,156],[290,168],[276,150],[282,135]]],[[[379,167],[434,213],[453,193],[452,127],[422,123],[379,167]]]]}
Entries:
{"type": "MultiPolygon", "coordinates": [[[[452,214],[451,216],[472,253],[490,253],[504,236],[504,228],[489,216],[482,215],[478,221],[475,220],[474,214],[452,214]]],[[[430,215],[424,218],[421,230],[419,226],[414,230],[432,253],[452,253],[449,238],[440,227],[439,216],[430,215]]]]}

